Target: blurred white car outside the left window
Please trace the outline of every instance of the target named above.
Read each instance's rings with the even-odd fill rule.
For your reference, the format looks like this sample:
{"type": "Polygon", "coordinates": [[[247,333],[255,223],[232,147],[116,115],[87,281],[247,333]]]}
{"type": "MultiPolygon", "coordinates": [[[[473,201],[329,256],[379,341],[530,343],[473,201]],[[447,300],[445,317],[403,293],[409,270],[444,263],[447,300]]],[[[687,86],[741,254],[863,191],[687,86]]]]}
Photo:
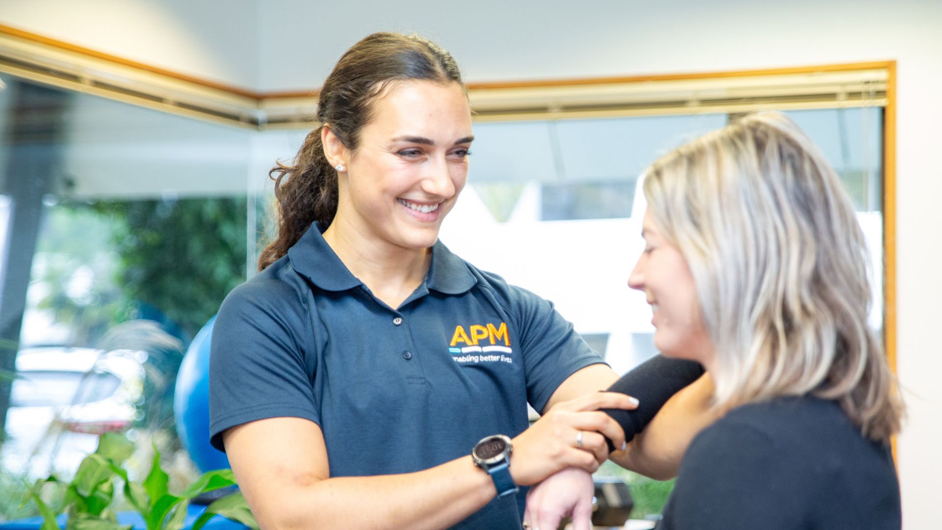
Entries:
{"type": "Polygon", "coordinates": [[[68,477],[98,435],[135,421],[144,386],[140,350],[47,346],[16,356],[0,466],[10,473],[68,477]]]}

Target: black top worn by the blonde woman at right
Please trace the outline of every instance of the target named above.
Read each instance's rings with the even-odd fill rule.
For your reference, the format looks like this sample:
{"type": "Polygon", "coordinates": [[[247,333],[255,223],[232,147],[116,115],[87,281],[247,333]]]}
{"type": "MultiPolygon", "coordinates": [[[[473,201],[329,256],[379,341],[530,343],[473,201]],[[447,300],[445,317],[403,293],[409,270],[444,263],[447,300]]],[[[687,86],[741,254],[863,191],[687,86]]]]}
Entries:
{"type": "Polygon", "coordinates": [[[835,402],[789,397],[740,406],[693,439],[658,530],[900,527],[889,447],[835,402]]]}

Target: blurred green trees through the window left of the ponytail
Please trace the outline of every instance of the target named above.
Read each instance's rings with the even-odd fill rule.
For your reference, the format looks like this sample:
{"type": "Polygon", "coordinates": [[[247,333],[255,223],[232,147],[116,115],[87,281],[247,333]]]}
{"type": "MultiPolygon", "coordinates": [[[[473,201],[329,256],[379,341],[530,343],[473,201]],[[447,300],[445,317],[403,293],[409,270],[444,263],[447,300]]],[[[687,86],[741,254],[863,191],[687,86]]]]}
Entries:
{"type": "Polygon", "coordinates": [[[136,318],[188,341],[245,281],[245,197],[70,202],[48,207],[37,307],[92,345],[136,318]]]}

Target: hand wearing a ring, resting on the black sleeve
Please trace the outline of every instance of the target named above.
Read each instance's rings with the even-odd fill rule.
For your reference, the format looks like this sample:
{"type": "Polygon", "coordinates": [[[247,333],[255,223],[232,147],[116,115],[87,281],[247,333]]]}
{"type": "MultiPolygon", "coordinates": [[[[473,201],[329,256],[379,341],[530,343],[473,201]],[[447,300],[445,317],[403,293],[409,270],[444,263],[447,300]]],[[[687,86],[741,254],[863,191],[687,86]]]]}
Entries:
{"type": "Polygon", "coordinates": [[[605,437],[615,447],[625,446],[625,431],[598,409],[637,406],[634,398],[617,392],[593,392],[553,406],[513,439],[513,482],[530,486],[569,467],[594,472],[609,457],[605,437]]]}

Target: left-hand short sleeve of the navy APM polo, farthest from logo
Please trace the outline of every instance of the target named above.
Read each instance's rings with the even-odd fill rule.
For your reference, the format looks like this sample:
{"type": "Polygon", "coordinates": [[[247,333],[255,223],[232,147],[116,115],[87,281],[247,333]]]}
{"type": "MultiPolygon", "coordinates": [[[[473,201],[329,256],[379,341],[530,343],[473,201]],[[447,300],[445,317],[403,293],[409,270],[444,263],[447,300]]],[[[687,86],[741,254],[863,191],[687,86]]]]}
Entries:
{"type": "Polygon", "coordinates": [[[222,432],[277,417],[320,422],[304,355],[310,324],[294,289],[265,273],[235,288],[219,308],[209,360],[210,442],[222,432]]]}

